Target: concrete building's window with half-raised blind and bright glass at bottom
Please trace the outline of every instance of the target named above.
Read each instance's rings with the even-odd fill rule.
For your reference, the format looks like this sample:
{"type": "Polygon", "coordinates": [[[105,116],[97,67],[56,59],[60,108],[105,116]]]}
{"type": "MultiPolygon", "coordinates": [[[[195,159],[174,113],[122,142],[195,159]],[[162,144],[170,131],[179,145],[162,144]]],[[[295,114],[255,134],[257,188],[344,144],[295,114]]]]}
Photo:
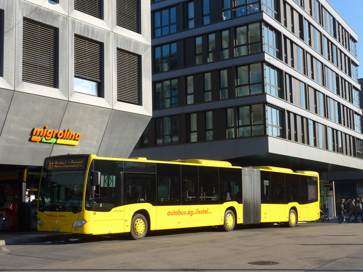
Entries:
{"type": "Polygon", "coordinates": [[[74,91],[100,95],[102,45],[93,40],[74,36],[74,91]]]}

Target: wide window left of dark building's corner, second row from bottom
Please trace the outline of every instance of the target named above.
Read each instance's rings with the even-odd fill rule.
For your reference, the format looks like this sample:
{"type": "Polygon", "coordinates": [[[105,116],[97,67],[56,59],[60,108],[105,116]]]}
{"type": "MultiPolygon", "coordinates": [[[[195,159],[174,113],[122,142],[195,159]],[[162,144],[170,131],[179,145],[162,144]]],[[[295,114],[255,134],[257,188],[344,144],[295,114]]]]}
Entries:
{"type": "Polygon", "coordinates": [[[262,94],[261,63],[237,67],[237,96],[262,94]]]}

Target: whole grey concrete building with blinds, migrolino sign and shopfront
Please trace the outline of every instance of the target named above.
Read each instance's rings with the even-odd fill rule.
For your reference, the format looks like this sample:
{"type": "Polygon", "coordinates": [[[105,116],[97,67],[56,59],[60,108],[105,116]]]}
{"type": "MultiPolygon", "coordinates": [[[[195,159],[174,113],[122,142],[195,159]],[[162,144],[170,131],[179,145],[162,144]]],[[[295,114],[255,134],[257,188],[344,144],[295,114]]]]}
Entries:
{"type": "Polygon", "coordinates": [[[20,230],[38,182],[23,186],[26,166],[68,153],[128,157],[146,127],[150,3],[3,0],[0,18],[0,189],[14,204],[1,212],[14,213],[5,229],[20,230]]]}

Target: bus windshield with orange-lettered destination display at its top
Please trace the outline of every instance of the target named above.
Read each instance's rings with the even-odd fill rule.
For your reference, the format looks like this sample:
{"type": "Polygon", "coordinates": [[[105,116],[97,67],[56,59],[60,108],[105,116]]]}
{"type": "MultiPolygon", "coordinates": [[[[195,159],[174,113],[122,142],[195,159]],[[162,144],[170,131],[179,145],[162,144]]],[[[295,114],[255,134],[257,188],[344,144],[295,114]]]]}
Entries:
{"type": "Polygon", "coordinates": [[[48,157],[40,180],[38,210],[79,213],[88,156],[48,157]]]}

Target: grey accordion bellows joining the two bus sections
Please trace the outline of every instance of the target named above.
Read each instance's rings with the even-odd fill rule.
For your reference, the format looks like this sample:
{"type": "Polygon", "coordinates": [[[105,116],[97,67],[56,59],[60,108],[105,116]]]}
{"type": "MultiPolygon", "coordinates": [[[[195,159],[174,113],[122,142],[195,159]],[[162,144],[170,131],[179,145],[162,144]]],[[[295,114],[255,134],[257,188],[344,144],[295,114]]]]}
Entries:
{"type": "Polygon", "coordinates": [[[242,168],[243,224],[261,223],[261,170],[242,168]]]}

